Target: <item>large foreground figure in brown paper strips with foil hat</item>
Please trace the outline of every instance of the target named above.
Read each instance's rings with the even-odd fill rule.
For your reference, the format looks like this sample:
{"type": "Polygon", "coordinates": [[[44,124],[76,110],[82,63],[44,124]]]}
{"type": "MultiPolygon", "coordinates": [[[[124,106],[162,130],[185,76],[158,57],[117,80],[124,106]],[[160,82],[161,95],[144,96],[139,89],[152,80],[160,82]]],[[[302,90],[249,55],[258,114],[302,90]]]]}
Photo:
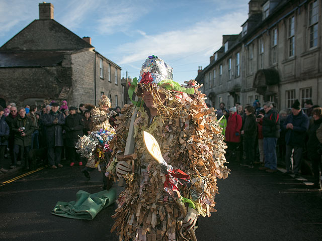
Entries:
{"type": "Polygon", "coordinates": [[[173,81],[172,68],[152,55],[142,65],[140,77],[129,89],[130,99],[140,108],[134,122],[134,176],[132,166],[117,161],[123,155],[134,105],[125,105],[118,117],[116,136],[110,142],[113,154],[109,177],[129,177],[112,216],[119,240],[189,240],[199,215],[214,212],[217,178],[226,178],[229,169],[226,148],[213,108],[207,108],[205,94],[191,80],[187,86],[173,81]],[[150,156],[143,142],[146,131],[158,142],[171,175],[150,156]],[[173,193],[179,191],[188,214],[182,215],[173,193]]]}

